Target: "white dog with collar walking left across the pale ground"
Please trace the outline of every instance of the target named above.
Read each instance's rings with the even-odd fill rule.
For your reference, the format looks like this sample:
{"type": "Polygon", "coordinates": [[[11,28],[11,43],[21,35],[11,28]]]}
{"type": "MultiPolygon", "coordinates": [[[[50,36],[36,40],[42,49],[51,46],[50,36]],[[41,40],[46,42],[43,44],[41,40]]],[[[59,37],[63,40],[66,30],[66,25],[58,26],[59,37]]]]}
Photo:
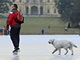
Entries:
{"type": "Polygon", "coordinates": [[[55,40],[51,39],[48,41],[49,44],[52,44],[56,49],[52,52],[55,53],[57,50],[59,50],[59,55],[61,54],[61,48],[64,48],[66,50],[65,55],[68,53],[68,48],[71,50],[73,55],[73,46],[77,48],[75,44],[73,44],[71,41],[67,40],[55,40]]]}

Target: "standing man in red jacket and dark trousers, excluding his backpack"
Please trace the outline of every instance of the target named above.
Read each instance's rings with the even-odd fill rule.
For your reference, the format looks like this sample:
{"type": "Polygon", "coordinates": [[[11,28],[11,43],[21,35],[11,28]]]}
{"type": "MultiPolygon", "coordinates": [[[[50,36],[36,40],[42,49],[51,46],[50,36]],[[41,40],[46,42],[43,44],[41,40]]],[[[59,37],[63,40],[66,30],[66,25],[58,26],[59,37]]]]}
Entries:
{"type": "Polygon", "coordinates": [[[14,46],[13,53],[19,52],[19,42],[20,42],[19,34],[20,34],[21,24],[15,21],[18,12],[17,8],[18,8],[17,4],[12,5],[12,10],[9,14],[7,25],[6,25],[7,30],[9,29],[8,28],[9,26],[11,27],[10,38],[14,46]]]}

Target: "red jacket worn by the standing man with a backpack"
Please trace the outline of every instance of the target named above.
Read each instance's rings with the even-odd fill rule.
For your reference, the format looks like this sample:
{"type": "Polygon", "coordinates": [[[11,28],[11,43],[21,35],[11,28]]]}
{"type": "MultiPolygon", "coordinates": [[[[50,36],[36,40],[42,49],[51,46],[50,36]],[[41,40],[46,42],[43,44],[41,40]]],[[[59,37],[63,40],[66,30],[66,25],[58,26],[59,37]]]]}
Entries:
{"type": "MultiPolygon", "coordinates": [[[[17,11],[17,10],[16,10],[17,11]]],[[[10,26],[13,26],[15,24],[18,24],[17,22],[15,22],[15,18],[17,17],[17,13],[11,11],[10,14],[9,14],[9,17],[8,17],[8,20],[7,20],[7,25],[10,25],[10,26]]]]}

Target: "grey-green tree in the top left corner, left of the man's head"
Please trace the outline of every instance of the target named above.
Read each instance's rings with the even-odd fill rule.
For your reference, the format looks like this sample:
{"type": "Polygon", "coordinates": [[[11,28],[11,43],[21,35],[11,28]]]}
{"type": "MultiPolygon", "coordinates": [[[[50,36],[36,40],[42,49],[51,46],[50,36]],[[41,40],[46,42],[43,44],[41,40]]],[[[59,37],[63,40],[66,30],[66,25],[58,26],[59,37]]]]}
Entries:
{"type": "Polygon", "coordinates": [[[10,0],[0,0],[0,13],[7,13],[11,4],[10,0]]]}

